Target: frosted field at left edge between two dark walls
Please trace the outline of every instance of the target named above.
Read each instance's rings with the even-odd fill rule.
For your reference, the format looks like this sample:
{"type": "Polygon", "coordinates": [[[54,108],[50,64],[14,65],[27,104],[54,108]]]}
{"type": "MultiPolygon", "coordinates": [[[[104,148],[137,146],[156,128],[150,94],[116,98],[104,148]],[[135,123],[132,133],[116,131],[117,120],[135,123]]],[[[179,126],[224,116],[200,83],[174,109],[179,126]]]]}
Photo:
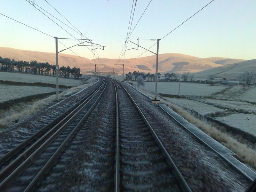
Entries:
{"type": "Polygon", "coordinates": [[[56,91],[56,89],[52,87],[0,84],[0,103],[11,99],[17,99],[20,97],[26,97],[40,93],[49,93],[54,91],[56,91]]]}

